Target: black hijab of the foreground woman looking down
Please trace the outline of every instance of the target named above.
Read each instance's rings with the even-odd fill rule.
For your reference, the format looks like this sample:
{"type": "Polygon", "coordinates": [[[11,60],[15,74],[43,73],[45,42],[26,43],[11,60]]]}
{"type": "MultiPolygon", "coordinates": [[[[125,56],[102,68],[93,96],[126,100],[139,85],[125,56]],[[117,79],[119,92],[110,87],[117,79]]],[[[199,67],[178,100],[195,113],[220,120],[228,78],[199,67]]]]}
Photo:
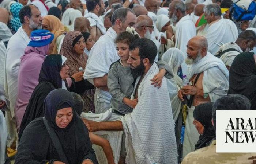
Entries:
{"type": "Polygon", "coordinates": [[[74,98],[71,93],[65,89],[51,91],[44,101],[44,113],[48,124],[59,138],[68,162],[70,164],[79,163],[81,159],[78,160],[80,152],[77,148],[81,147],[82,142],[79,142],[79,139],[85,135],[85,125],[74,110],[74,98]],[[67,107],[72,108],[73,118],[66,128],[59,128],[55,120],[57,111],[67,107]],[[79,128],[83,130],[79,131],[79,128]]]}

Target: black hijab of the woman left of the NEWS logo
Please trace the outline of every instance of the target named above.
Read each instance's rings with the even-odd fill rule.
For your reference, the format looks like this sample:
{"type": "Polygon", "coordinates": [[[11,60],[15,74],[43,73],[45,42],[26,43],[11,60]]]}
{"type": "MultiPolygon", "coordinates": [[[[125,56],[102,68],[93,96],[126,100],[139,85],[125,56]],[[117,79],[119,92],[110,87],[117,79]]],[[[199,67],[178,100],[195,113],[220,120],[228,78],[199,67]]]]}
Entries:
{"type": "Polygon", "coordinates": [[[213,102],[206,102],[196,106],[194,110],[194,118],[204,126],[204,132],[199,136],[199,140],[196,144],[196,149],[206,147],[210,145],[211,140],[215,138],[215,130],[212,125],[212,105],[213,102]]]}

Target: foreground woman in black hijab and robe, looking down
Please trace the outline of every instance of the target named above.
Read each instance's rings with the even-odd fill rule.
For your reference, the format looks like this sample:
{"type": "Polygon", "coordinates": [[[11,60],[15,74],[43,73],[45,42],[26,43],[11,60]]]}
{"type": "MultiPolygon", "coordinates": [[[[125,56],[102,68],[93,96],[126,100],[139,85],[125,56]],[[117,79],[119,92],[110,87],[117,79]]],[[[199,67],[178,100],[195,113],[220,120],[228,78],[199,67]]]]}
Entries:
{"type": "Polygon", "coordinates": [[[44,101],[44,113],[45,117],[30,122],[24,130],[15,164],[98,164],[69,91],[51,91],[44,101]]]}

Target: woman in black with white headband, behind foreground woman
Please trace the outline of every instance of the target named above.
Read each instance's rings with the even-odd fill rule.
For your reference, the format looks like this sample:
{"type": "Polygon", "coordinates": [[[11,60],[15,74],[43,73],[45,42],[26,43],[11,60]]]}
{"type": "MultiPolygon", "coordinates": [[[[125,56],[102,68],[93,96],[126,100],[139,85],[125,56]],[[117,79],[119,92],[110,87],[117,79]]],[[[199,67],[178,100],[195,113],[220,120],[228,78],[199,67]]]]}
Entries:
{"type": "Polygon", "coordinates": [[[39,74],[39,83],[35,87],[29,104],[21,121],[19,139],[23,130],[35,118],[44,116],[43,103],[50,91],[58,88],[75,91],[75,80],[68,75],[69,67],[66,65],[67,58],[61,55],[49,55],[42,63],[39,74]]]}

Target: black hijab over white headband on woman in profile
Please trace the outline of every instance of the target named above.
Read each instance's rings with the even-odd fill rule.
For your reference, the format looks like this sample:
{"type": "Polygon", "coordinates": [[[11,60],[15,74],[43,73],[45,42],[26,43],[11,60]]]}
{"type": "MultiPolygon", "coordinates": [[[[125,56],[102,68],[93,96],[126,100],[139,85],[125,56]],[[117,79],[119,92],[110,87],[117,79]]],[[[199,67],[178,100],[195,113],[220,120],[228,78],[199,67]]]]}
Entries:
{"type": "Polygon", "coordinates": [[[52,54],[46,56],[42,63],[38,81],[50,82],[56,89],[61,88],[62,79],[60,77],[60,70],[62,63],[62,55],[52,54]]]}

